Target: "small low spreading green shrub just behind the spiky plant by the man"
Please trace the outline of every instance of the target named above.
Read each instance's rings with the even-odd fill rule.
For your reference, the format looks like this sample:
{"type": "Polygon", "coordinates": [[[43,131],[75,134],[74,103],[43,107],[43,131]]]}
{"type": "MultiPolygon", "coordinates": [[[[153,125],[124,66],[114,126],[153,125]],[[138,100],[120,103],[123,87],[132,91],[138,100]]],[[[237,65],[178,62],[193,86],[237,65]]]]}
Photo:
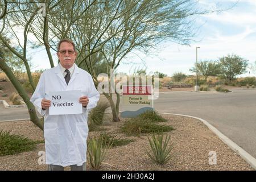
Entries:
{"type": "Polygon", "coordinates": [[[103,142],[107,145],[112,144],[112,147],[124,146],[126,144],[129,144],[130,142],[134,142],[133,139],[119,138],[116,135],[111,135],[105,132],[100,134],[100,138],[102,138],[103,142]]]}

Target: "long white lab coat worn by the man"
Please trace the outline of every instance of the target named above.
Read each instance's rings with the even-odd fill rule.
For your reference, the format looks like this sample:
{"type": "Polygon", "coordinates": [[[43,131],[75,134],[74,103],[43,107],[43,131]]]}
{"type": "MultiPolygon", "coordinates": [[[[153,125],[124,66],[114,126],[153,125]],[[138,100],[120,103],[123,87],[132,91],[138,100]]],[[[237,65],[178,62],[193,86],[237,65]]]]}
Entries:
{"type": "Polygon", "coordinates": [[[44,115],[46,164],[65,167],[73,164],[81,166],[86,162],[88,111],[96,107],[99,98],[92,76],[76,64],[68,85],[60,71],[60,64],[42,73],[30,101],[44,115]],[[89,104],[82,108],[82,114],[49,115],[49,109],[42,109],[41,101],[49,92],[65,90],[81,90],[82,96],[88,96],[89,104]]]}

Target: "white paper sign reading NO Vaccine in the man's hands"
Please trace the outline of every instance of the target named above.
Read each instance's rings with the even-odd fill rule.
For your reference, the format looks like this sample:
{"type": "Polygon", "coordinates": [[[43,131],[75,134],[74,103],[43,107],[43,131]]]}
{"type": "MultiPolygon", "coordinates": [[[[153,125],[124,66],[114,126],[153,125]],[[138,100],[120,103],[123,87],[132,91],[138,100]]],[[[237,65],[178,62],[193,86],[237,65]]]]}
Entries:
{"type": "Polygon", "coordinates": [[[49,115],[81,114],[82,104],[79,103],[81,96],[81,90],[49,92],[46,97],[51,100],[49,115]]]}

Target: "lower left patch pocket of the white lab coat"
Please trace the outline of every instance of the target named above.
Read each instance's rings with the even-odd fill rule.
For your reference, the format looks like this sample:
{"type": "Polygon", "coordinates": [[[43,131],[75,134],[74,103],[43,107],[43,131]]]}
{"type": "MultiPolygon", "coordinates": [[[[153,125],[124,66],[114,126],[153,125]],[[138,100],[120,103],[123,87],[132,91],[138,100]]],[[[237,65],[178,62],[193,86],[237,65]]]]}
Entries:
{"type": "Polygon", "coordinates": [[[44,124],[44,139],[46,140],[46,146],[50,144],[59,144],[59,130],[57,123],[45,123],[44,124]]]}

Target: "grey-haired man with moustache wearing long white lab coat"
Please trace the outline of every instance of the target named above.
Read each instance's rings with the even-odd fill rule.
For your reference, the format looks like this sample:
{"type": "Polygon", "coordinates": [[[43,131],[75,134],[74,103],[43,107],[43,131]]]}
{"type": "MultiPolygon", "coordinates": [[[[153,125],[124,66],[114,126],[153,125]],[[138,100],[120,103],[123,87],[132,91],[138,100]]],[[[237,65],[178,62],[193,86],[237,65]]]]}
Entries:
{"type": "Polygon", "coordinates": [[[63,39],[57,49],[60,64],[42,73],[30,101],[44,115],[48,170],[63,170],[65,166],[71,166],[71,170],[82,171],[86,169],[88,111],[96,107],[100,94],[92,76],[75,64],[75,44],[63,39]],[[49,115],[51,101],[46,99],[47,94],[67,90],[81,90],[82,114],[49,115]]]}

